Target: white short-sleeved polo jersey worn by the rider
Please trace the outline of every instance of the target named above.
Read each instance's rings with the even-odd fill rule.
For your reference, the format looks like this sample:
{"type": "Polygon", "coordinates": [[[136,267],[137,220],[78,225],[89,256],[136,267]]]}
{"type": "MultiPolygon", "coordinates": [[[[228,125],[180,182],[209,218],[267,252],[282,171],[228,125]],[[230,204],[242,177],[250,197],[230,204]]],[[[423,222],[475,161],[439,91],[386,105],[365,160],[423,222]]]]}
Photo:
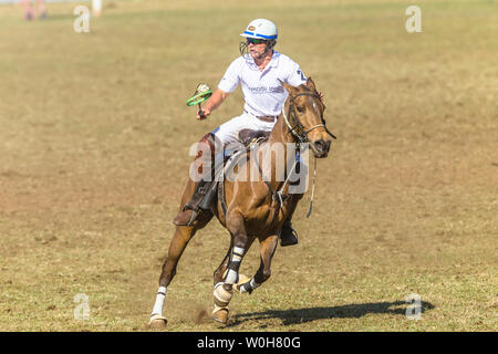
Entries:
{"type": "Polygon", "coordinates": [[[252,116],[276,116],[282,111],[288,92],[280,81],[299,86],[307,82],[299,65],[286,54],[273,51],[271,61],[260,71],[255,60],[248,55],[231,62],[218,88],[227,93],[242,87],[246,104],[243,111],[252,116]]]}

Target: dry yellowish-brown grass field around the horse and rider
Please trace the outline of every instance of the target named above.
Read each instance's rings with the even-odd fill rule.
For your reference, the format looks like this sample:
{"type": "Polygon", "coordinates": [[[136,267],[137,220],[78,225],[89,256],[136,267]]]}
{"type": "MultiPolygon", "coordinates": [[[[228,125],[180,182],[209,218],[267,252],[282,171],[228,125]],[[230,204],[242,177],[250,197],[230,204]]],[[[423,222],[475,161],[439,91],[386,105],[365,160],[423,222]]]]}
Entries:
{"type": "MultiPolygon", "coordinates": [[[[89,4],[86,2],[86,4],[89,4]]],[[[216,86],[258,17],[312,76],[338,135],[314,211],[272,278],[209,320],[228,233],[211,222],[168,288],[169,331],[498,330],[498,1],[107,1],[45,21],[0,7],[0,331],[145,331],[189,146],[240,114],[216,86]],[[76,294],[90,320],[74,320],[76,294]],[[408,294],[422,317],[405,315],[408,294]]],[[[241,271],[259,264],[257,244],[241,271]]]]}

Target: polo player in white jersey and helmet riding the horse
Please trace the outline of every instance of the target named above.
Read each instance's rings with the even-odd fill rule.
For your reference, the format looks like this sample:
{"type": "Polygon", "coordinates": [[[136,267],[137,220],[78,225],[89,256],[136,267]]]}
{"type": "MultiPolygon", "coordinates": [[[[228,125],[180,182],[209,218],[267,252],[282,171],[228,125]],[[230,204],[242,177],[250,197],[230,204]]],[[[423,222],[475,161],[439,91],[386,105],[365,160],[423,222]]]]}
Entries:
{"type": "MultiPolygon", "coordinates": [[[[216,144],[226,146],[238,142],[242,129],[271,132],[288,96],[281,82],[293,86],[307,82],[299,64],[273,49],[278,38],[273,22],[266,19],[253,20],[240,35],[246,39],[246,42],[240,43],[241,56],[232,61],[217,91],[197,113],[197,119],[206,118],[240,83],[246,100],[243,113],[221,124],[203,138],[209,142],[211,148],[216,144]]],[[[193,197],[176,216],[174,223],[190,226],[203,209],[209,208],[215,194],[208,191],[212,191],[210,187],[214,183],[211,178],[203,178],[196,183],[193,197]]],[[[290,218],[282,226],[280,243],[281,246],[298,243],[290,218]]]]}

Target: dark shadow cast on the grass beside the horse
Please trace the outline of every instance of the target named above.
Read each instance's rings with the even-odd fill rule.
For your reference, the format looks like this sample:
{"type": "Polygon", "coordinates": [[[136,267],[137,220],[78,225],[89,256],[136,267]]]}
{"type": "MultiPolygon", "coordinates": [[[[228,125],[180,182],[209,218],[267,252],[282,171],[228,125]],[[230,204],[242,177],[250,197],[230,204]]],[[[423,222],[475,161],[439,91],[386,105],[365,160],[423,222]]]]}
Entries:
{"type": "MultiPolygon", "coordinates": [[[[236,314],[229,326],[237,326],[245,321],[261,321],[280,319],[283,325],[299,324],[326,319],[359,319],[366,314],[396,314],[406,316],[408,303],[404,301],[360,303],[331,308],[308,308],[297,310],[268,310],[236,314]]],[[[421,312],[433,310],[435,306],[426,301],[421,304],[421,312]]]]}

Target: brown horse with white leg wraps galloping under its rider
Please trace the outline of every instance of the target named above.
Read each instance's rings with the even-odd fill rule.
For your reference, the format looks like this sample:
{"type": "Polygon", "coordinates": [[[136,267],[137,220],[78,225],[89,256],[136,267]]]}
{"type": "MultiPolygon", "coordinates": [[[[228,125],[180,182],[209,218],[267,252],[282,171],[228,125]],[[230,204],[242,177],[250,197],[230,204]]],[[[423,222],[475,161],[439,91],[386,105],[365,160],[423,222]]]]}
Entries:
{"type": "MultiPolygon", "coordinates": [[[[286,171],[277,166],[279,158],[276,154],[278,149],[274,147],[293,146],[303,155],[308,152],[304,146],[309,146],[315,158],[323,158],[328,156],[331,138],[335,138],[325,126],[323,119],[325,106],[311,77],[305,85],[298,87],[286,83],[282,85],[288,91],[289,97],[271,134],[266,142],[252,145],[251,154],[246,153],[248,157],[246,165],[249,167],[246,171],[256,170],[259,177],[263,177],[256,180],[242,178],[246,176],[242,176],[238,165],[234,169],[236,177],[232,180],[224,179],[218,183],[222,194],[218,194],[210,211],[200,212],[190,226],[176,226],[159,278],[159,291],[149,322],[152,327],[166,325],[166,319],[163,316],[164,300],[166,289],[176,273],[179,258],[196,231],[203,229],[214,216],[230,232],[231,239],[227,254],[214,273],[212,319],[227,323],[228,303],[234,288],[250,293],[270,278],[270,266],[277,249],[279,230],[292,216],[305,191],[299,189],[297,192],[290,192],[292,186],[289,183],[289,168],[286,178],[286,171]],[[270,164],[264,164],[264,156],[270,156],[270,164]],[[251,279],[239,279],[240,263],[255,239],[260,243],[260,267],[251,279]]],[[[299,165],[295,150],[281,149],[283,160],[292,168],[299,165]]],[[[180,211],[193,196],[194,188],[195,183],[189,178],[181,198],[180,211]]]]}

